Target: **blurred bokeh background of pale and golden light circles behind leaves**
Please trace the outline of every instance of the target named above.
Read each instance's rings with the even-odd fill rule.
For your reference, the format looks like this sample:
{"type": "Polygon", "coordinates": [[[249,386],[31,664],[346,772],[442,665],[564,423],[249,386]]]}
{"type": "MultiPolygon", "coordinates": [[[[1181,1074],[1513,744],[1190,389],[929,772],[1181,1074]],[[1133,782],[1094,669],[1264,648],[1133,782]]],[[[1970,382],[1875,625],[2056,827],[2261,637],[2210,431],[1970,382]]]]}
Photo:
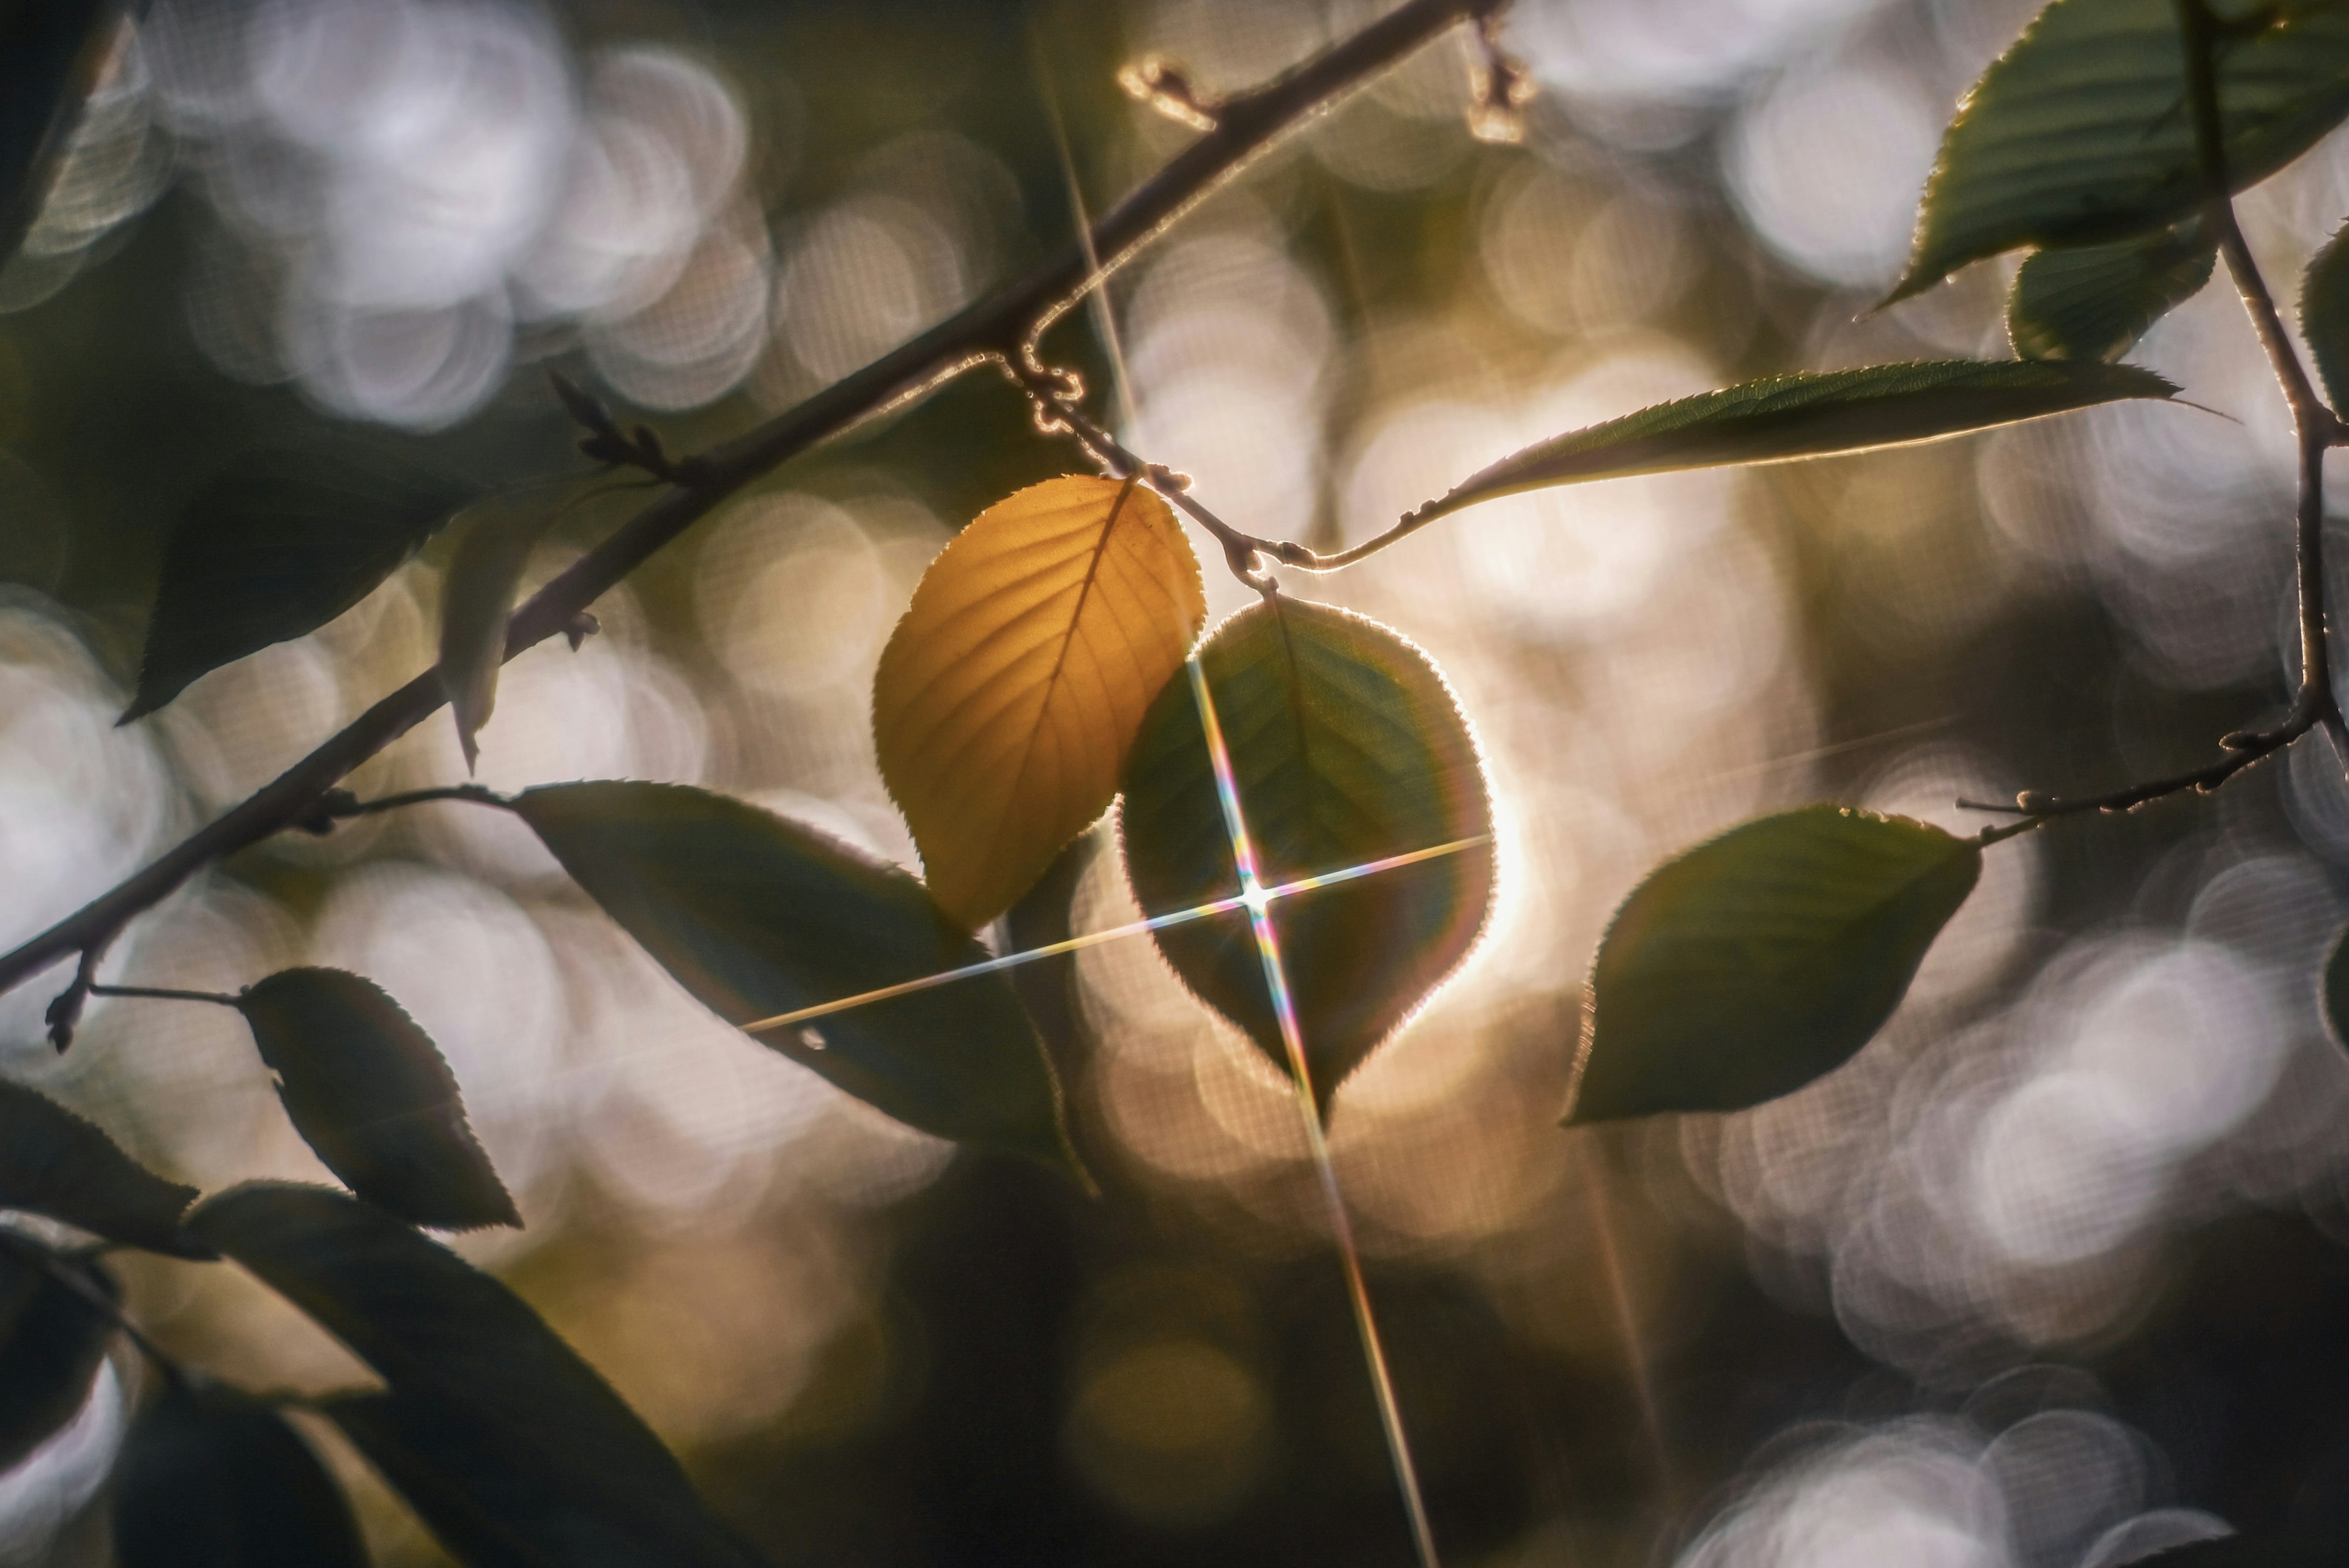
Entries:
{"type": "MultiPolygon", "coordinates": [[[[585,472],[543,366],[677,451],[740,432],[1174,153],[1191,131],[1120,63],[1236,89],[1377,9],[155,0],[0,272],[0,939],[432,657],[446,545],[113,728],[207,477],[357,439],[585,472]]],[[[1468,49],[1433,47],[1048,354],[1224,516],[1313,545],[1741,376],[2004,354],[2001,265],[1867,307],[1957,94],[2030,9],[1520,0],[1522,146],[1470,141],[1468,49]]],[[[2290,279],[2349,214],[2349,143],[2241,207],[2290,279]]],[[[2109,1568],[2349,1498],[2349,1061],[2314,986],[2349,791],[2314,742],[1994,852],[1825,1082],[1555,1127],[1590,951],[1663,854],[1816,798],[1980,822],[1952,800],[2116,786],[2279,707],[2281,397],[2225,284],[2135,359],[2215,413],[1503,500],[1287,582],[1442,664],[1503,822],[1482,948],[1334,1122],[1447,1561],[2109,1568]]],[[[984,373],[789,465],[606,596],[601,636],[507,669],[482,779],[695,782],[909,861],[867,728],[881,641],[951,528],[1073,467],[984,373]]],[[[627,505],[566,521],[533,577],[627,505]]],[[[1210,570],[1210,596],[1245,589],[1210,570]]],[[[355,786],[463,777],[435,718],[355,786]]],[[[1078,930],[1132,918],[1095,838],[1078,930]]],[[[1099,1199],[721,1028],[500,815],[261,845],[108,976],[294,962],[425,1023],[529,1218],[458,1246],[775,1561],[1409,1561],[1294,1108],[1146,944],[1038,976],[1099,1199]]],[[[204,1188],[322,1178],[233,1014],[99,1002],[56,1059],[49,981],[0,1002],[9,1077],[204,1188]]],[[[122,1272],[190,1361],[359,1376],[226,1265],[122,1272]]],[[[0,1479],[0,1559],[99,1561],[136,1378],[0,1479]]],[[[381,1559],[437,1561],[315,1437],[381,1559]]]]}

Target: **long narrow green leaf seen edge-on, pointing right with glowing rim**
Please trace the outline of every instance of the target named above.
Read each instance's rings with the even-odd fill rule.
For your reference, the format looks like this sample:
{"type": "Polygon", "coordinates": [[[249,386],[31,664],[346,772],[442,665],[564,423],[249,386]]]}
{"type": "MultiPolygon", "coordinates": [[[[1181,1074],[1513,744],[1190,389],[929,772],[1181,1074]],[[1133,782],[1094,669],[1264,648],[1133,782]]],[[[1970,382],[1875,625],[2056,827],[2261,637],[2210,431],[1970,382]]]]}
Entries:
{"type": "Polygon", "coordinates": [[[2178,387],[2126,364],[1943,359],[1769,376],[1536,441],[1409,514],[1431,523],[1480,500],[1724,462],[1788,462],[1933,441],[2178,387]]]}

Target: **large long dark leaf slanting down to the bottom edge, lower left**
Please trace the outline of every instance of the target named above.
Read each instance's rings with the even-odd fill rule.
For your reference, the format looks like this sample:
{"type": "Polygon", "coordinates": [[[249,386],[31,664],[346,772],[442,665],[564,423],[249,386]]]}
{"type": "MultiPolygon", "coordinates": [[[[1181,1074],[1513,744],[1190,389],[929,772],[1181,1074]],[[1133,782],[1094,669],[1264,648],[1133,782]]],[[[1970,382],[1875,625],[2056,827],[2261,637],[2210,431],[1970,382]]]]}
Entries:
{"type": "Polygon", "coordinates": [[[188,1225],[425,1411],[423,1432],[451,1434],[413,1458],[435,1486],[465,1491],[470,1462],[496,1453],[540,1495],[564,1498],[568,1516],[536,1521],[545,1561],[749,1561],[611,1385],[446,1246],[341,1192],[284,1183],[221,1192],[188,1225]]]}

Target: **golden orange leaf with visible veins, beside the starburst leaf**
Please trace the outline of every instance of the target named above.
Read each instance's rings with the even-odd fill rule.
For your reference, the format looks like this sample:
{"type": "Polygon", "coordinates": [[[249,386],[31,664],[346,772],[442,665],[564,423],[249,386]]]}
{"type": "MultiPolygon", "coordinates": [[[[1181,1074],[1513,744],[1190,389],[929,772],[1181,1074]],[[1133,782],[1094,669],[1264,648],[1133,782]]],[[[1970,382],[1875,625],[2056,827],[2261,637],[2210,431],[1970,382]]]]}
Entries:
{"type": "Polygon", "coordinates": [[[930,561],[881,650],[874,742],[940,908],[987,925],[1109,810],[1205,620],[1174,514],[1116,479],[1015,491],[930,561]]]}

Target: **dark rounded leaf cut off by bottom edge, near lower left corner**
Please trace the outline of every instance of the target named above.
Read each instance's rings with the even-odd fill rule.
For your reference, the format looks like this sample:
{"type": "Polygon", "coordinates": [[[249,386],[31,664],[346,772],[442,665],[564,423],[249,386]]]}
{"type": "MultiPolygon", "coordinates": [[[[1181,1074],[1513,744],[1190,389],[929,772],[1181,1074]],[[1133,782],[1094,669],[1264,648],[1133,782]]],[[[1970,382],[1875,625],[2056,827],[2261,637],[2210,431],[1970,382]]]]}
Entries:
{"type": "Polygon", "coordinates": [[[277,1411],[171,1383],[122,1441],[117,1568],[366,1568],[343,1488],[277,1411]]]}

